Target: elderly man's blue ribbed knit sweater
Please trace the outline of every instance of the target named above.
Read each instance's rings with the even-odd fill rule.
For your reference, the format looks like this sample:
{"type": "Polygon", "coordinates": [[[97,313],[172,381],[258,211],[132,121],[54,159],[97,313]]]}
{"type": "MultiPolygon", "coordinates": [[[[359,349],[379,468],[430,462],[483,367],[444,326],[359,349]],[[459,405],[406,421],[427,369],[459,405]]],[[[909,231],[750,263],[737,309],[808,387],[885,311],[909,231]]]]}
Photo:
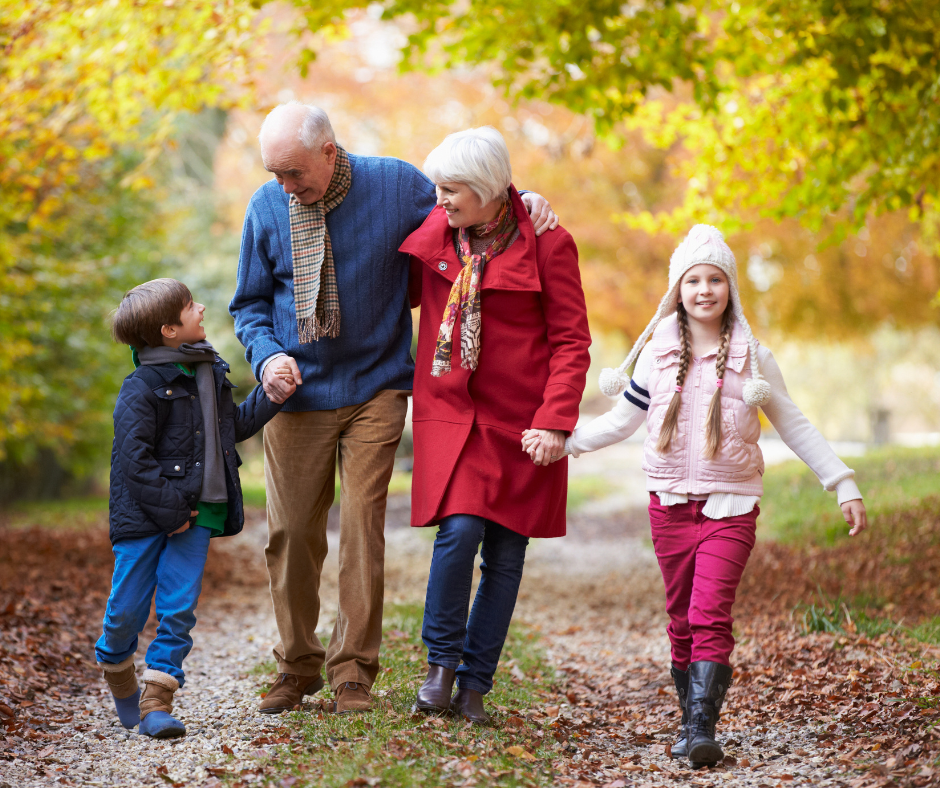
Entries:
{"type": "Polygon", "coordinates": [[[434,184],[399,159],[350,154],[349,163],[352,186],[326,215],[339,286],[336,339],[298,341],[289,197],[277,181],[254,193],[245,215],[229,311],[255,377],[274,353],[297,359],[303,385],[285,411],[358,405],[383,389],[412,387],[408,256],[398,247],[434,207],[434,184]]]}

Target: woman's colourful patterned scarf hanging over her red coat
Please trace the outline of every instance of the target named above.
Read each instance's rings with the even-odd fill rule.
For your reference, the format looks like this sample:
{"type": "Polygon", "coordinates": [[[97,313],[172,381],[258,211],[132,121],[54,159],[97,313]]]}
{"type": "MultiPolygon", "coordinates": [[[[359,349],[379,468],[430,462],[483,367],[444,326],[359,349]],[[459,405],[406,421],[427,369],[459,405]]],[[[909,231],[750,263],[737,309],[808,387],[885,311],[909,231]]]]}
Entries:
{"type": "Polygon", "coordinates": [[[431,364],[431,374],[434,377],[439,378],[450,372],[454,325],[457,323],[458,312],[460,313],[460,366],[471,371],[477,368],[480,361],[480,335],[483,328],[480,297],[483,267],[489,260],[509,248],[517,227],[512,201],[506,200],[499,210],[499,215],[492,222],[478,226],[476,230],[481,238],[493,237],[483,254],[476,255],[471,252],[468,228],[460,227],[455,231],[454,246],[463,262],[463,268],[450,290],[447,306],[444,307],[444,321],[437,335],[434,362],[431,364]]]}

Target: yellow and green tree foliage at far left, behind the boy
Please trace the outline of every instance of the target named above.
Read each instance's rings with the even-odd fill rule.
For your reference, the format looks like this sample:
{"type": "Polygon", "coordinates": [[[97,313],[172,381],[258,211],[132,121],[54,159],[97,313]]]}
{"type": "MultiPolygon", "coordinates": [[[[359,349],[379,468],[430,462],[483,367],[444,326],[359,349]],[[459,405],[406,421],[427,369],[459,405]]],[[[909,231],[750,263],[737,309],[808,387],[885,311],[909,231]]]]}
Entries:
{"type": "Polygon", "coordinates": [[[166,154],[181,117],[250,96],[253,16],[0,2],[0,497],[55,493],[100,465],[129,371],[107,314],[166,273],[181,184],[166,154]]]}

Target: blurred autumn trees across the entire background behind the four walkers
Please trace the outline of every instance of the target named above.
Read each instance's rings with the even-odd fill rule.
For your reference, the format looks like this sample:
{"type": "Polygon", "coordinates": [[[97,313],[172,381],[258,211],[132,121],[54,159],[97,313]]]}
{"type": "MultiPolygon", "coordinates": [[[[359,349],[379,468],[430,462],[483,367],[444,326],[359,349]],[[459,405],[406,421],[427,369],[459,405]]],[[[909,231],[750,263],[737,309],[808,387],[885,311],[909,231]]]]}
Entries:
{"type": "Polygon", "coordinates": [[[499,128],[578,242],[598,367],[707,221],[827,436],[885,410],[940,432],[934,5],[260,5],[0,0],[0,498],[106,467],[133,284],[186,281],[251,384],[227,303],[258,127],[292,98],[418,166],[499,128]]]}

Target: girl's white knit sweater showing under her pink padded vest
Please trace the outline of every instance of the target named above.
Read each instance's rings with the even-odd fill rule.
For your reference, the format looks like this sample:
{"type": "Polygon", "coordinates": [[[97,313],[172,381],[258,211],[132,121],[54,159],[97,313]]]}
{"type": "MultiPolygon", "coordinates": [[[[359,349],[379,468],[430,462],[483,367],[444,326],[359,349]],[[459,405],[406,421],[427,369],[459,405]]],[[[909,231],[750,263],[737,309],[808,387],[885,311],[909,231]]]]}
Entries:
{"type": "MultiPolygon", "coordinates": [[[[783,373],[767,348],[758,348],[758,363],[764,379],[770,384],[770,402],[763,407],[764,414],[777,430],[783,442],[805,462],[822,482],[826,490],[835,490],[839,504],[861,499],[855,484],[855,471],[840,460],[826,439],[803,415],[787,393],[783,373]]],[[[709,354],[711,355],[711,354],[709,354]]],[[[647,345],[637,359],[633,382],[643,391],[649,391],[652,351],[647,345]]],[[[648,401],[634,387],[630,394],[620,398],[614,408],[583,427],[578,427],[565,441],[565,452],[578,457],[584,452],[596,451],[604,446],[629,438],[646,420],[648,401]],[[632,400],[632,401],[631,401],[632,400]]],[[[655,479],[650,479],[650,491],[656,492],[665,506],[685,503],[686,495],[660,493],[655,489],[655,479]]],[[[731,517],[750,512],[760,499],[754,496],[733,493],[712,493],[708,496],[704,513],[712,519],[731,517]]]]}

